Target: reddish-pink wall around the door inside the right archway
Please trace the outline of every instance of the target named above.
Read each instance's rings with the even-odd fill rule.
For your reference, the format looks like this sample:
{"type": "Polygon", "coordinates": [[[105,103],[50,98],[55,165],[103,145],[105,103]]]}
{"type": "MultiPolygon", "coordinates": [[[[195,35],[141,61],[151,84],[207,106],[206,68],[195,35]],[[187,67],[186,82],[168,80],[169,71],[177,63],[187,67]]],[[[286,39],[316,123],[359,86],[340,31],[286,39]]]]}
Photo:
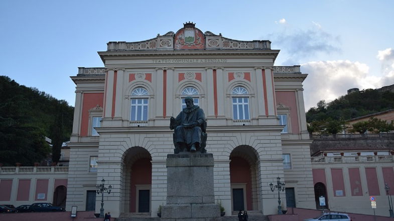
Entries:
{"type": "Polygon", "coordinates": [[[249,163],[241,157],[231,157],[230,161],[230,182],[246,183],[246,207],[245,210],[252,210],[252,191],[249,163]]]}

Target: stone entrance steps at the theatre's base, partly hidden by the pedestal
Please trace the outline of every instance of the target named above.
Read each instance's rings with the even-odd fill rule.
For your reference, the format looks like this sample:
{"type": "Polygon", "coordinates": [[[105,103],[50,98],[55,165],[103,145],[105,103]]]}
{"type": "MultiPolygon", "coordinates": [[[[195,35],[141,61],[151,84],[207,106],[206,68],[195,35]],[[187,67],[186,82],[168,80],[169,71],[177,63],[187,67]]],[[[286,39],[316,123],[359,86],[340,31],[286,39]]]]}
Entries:
{"type": "MultiPolygon", "coordinates": [[[[247,211],[247,221],[269,221],[267,215],[260,211],[247,211]]],[[[121,213],[115,221],[160,221],[160,217],[151,217],[149,212],[121,213]]],[[[238,212],[233,211],[231,216],[222,216],[222,221],[238,221],[238,212]]]]}

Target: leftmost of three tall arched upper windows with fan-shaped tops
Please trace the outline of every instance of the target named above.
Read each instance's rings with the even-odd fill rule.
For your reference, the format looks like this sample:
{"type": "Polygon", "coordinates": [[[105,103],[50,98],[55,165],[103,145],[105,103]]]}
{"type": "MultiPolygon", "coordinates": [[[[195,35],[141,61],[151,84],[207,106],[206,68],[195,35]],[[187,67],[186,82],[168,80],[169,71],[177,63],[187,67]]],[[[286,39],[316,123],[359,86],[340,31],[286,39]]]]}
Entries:
{"type": "Polygon", "coordinates": [[[148,96],[149,93],[145,88],[136,88],[132,92],[131,102],[131,121],[148,120],[148,96]]]}

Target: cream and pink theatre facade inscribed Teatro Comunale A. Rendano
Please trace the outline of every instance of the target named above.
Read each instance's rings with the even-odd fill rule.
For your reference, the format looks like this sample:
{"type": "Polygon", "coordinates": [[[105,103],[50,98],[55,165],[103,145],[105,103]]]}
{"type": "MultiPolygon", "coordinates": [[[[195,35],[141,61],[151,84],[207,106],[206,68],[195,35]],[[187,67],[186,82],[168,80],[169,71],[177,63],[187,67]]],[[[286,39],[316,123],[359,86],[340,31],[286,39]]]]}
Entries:
{"type": "MultiPolygon", "coordinates": [[[[275,66],[270,41],[239,41],[185,23],[140,42],[109,42],[104,68],[79,68],[66,210],[99,212],[96,185],[111,185],[105,211],[149,212],[166,204],[170,117],[191,96],[207,119],[215,200],[230,211],[316,208],[300,66],[275,66]]],[[[183,177],[179,177],[182,180],[183,177]]],[[[204,185],[204,183],[201,183],[204,185]]],[[[188,188],[185,186],[185,188],[188,188]]]]}

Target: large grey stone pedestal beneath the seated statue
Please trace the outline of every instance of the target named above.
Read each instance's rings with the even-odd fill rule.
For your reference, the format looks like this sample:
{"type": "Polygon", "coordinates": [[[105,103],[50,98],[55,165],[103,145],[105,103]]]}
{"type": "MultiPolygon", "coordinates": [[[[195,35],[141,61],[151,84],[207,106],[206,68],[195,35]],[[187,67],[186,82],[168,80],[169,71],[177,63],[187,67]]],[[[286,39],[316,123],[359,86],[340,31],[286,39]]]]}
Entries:
{"type": "Polygon", "coordinates": [[[162,221],[220,221],[213,191],[213,155],[167,155],[167,204],[162,221]]]}

